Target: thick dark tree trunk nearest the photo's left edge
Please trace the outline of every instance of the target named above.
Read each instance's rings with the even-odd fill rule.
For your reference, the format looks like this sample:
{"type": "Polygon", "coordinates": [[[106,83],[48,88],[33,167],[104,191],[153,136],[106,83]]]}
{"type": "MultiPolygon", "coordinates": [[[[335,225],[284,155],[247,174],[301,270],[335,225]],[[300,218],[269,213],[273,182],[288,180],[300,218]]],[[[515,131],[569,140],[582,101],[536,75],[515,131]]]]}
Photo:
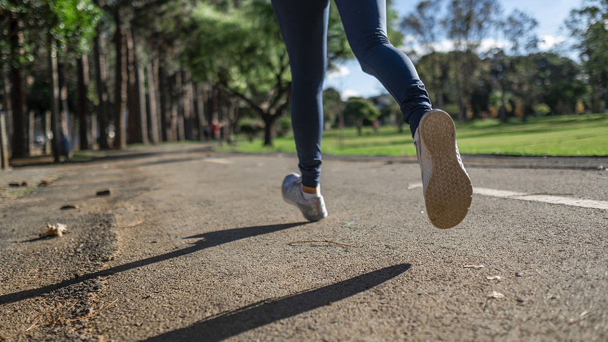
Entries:
{"type": "MultiPolygon", "coordinates": [[[[10,31],[15,32],[10,37],[10,52],[13,58],[24,54],[23,32],[19,19],[11,19],[10,31]]],[[[26,134],[26,101],[23,86],[23,75],[21,69],[16,68],[13,63],[10,67],[11,79],[11,107],[13,110],[13,158],[21,158],[27,155],[27,134],[26,134]]]]}

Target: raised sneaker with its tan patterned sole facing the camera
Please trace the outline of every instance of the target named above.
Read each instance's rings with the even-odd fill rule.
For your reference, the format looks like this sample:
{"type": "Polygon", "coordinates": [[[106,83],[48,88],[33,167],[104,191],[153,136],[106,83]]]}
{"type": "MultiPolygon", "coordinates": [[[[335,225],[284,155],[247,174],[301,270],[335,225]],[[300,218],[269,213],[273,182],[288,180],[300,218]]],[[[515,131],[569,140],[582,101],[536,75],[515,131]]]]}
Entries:
{"type": "Polygon", "coordinates": [[[465,219],[473,187],[456,144],[454,120],[444,111],[424,114],[414,134],[430,222],[452,228],[465,219]]]}

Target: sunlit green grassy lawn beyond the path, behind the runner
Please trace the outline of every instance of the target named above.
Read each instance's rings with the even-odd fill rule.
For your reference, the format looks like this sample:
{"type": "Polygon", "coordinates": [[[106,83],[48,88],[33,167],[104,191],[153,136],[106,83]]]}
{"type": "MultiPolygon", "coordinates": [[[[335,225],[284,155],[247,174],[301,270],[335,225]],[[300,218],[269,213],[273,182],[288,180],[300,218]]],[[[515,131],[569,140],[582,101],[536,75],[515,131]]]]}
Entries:
{"type": "MultiPolygon", "coordinates": [[[[475,120],[457,124],[457,131],[458,148],[465,154],[608,155],[608,114],[534,117],[528,122],[512,119],[505,124],[495,119],[475,120]]],[[[236,145],[224,145],[219,150],[295,152],[291,135],[276,138],[272,148],[263,147],[262,142],[240,137],[236,145]]],[[[396,127],[385,126],[373,134],[371,127],[364,127],[363,136],[358,136],[353,127],[346,128],[343,134],[339,130],[325,131],[321,150],[331,155],[416,155],[407,125],[403,133],[398,133],[396,127]]]]}

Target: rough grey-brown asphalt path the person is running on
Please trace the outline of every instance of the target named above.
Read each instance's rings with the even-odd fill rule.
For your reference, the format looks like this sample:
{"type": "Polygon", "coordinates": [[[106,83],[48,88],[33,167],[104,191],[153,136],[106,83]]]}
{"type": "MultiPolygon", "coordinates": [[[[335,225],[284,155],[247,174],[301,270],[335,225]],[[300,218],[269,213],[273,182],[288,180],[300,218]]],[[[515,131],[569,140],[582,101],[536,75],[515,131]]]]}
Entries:
{"type": "Polygon", "coordinates": [[[61,166],[0,202],[0,340],[607,341],[606,158],[469,159],[477,192],[447,230],[411,158],[326,158],[314,223],[280,197],[291,154],[61,166]],[[46,222],[71,232],[36,239],[46,222]]]}

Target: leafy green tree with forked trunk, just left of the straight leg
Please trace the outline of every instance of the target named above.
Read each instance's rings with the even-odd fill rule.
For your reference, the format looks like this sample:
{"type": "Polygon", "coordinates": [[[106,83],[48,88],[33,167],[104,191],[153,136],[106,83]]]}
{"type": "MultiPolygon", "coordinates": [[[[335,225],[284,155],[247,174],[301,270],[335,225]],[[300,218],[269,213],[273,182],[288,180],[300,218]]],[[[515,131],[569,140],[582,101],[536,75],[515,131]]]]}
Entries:
{"type": "Polygon", "coordinates": [[[229,13],[199,5],[190,25],[184,57],[193,75],[246,102],[264,122],[264,145],[272,145],[275,122],[289,106],[291,75],[271,4],[251,1],[229,13]]]}

